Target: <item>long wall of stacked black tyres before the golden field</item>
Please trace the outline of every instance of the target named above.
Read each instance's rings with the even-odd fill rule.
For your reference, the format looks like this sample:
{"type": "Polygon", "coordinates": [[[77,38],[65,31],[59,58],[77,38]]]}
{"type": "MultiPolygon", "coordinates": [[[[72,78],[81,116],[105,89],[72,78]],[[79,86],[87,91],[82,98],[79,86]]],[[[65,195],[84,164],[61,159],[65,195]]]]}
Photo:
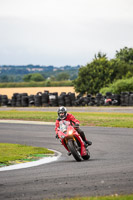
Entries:
{"type": "Polygon", "coordinates": [[[107,92],[105,96],[98,93],[96,96],[87,96],[75,93],[49,91],[38,92],[36,95],[28,96],[27,93],[14,93],[11,99],[7,95],[0,95],[0,106],[11,107],[57,107],[57,106],[133,106],[133,92],[122,92],[120,95],[107,92]]]}

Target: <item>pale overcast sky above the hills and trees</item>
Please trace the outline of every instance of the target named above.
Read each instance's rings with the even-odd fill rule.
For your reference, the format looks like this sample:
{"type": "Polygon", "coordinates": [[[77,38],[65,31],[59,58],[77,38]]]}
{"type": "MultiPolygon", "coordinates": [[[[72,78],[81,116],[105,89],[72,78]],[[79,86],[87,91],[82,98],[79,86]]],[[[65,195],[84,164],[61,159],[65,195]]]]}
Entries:
{"type": "Polygon", "coordinates": [[[0,0],[0,65],[86,65],[133,48],[133,0],[0,0]]]}

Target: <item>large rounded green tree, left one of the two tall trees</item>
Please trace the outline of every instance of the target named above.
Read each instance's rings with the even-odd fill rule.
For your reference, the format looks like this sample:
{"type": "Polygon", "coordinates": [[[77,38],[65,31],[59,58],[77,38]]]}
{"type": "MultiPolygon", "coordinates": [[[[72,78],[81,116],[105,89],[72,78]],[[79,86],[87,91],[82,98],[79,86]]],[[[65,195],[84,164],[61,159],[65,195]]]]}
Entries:
{"type": "Polygon", "coordinates": [[[90,64],[79,69],[78,77],[73,81],[75,91],[96,94],[112,81],[113,73],[112,63],[100,53],[90,64]]]}

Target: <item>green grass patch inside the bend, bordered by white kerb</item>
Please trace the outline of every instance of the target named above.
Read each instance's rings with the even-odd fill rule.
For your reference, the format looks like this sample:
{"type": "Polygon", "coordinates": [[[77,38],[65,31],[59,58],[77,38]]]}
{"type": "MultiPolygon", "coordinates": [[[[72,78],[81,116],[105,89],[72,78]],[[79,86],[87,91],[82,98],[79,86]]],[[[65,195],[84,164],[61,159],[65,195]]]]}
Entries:
{"type": "Polygon", "coordinates": [[[0,143],[0,167],[37,160],[42,156],[51,154],[54,154],[54,152],[42,147],[0,143]]]}

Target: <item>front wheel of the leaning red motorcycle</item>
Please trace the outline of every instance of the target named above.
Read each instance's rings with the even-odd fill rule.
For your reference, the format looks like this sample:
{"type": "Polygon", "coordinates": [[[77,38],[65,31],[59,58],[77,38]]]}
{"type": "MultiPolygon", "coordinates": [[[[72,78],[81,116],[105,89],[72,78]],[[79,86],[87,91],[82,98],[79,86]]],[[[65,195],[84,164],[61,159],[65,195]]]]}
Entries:
{"type": "Polygon", "coordinates": [[[80,152],[78,151],[78,147],[74,144],[73,140],[68,140],[67,143],[69,151],[72,153],[73,157],[75,158],[76,161],[81,161],[82,157],[80,155],[80,152]]]}

